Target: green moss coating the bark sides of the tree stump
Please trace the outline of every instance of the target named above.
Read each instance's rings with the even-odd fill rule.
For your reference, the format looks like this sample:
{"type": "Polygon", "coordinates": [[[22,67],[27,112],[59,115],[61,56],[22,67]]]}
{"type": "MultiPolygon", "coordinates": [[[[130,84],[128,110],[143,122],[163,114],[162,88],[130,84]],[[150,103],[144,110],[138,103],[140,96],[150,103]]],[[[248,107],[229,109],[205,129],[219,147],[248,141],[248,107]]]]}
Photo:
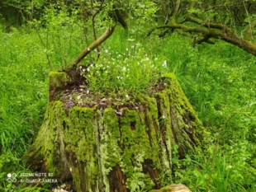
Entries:
{"type": "MultiPolygon", "coordinates": [[[[50,75],[68,80],[62,73],[50,75]]],[[[154,97],[140,95],[138,109],[123,108],[122,115],[117,115],[110,105],[105,110],[97,105],[74,106],[65,112],[61,101],[50,102],[35,144],[35,151],[45,157],[47,170],[61,175],[71,168],[78,191],[85,186],[89,191],[97,180],[103,180],[101,185],[108,191],[109,174],[119,166],[129,190],[150,190],[154,182],[144,172],[144,164],[150,160],[159,174],[171,181],[173,146],[193,148],[185,133],[201,129],[201,123],[176,78],[172,74],[165,78],[171,85],[168,89],[154,97]],[[184,122],[187,116],[191,124],[184,122]]],[[[53,83],[62,87],[59,80],[53,83]]]]}

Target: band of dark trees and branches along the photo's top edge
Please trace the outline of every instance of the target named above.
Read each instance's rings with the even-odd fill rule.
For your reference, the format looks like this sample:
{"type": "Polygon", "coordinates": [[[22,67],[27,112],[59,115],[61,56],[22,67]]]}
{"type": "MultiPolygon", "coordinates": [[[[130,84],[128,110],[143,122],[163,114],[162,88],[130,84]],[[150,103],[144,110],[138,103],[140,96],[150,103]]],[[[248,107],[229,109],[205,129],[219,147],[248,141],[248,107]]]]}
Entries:
{"type": "MultiPolygon", "coordinates": [[[[218,39],[256,55],[254,0],[8,0],[1,3],[0,12],[8,25],[39,20],[48,7],[55,7],[57,12],[66,9],[69,15],[76,12],[84,21],[92,21],[93,28],[95,25],[102,26],[102,21],[110,21],[109,19],[119,21],[127,28],[126,21],[132,17],[135,22],[140,20],[137,21],[138,24],[143,19],[151,22],[152,29],[140,29],[145,30],[148,35],[157,33],[161,37],[176,31],[180,35],[190,36],[193,46],[214,44],[214,39],[218,39]],[[12,14],[7,13],[7,10],[11,10],[12,14]]],[[[93,35],[96,40],[95,30],[93,35]]]]}

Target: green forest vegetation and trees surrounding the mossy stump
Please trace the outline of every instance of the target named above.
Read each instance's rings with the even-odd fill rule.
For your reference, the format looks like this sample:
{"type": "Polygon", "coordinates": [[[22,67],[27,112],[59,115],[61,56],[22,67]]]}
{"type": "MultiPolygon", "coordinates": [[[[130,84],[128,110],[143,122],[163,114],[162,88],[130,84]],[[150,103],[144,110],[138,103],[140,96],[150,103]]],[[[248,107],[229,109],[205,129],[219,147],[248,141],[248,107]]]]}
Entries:
{"type": "Polygon", "coordinates": [[[30,171],[20,160],[44,119],[48,73],[117,22],[82,61],[93,63],[92,91],[125,100],[147,91],[154,73],[174,73],[208,135],[201,151],[173,157],[173,182],[194,192],[256,191],[255,12],[252,0],[0,2],[0,190],[53,187],[15,185],[7,174],[30,171]]]}

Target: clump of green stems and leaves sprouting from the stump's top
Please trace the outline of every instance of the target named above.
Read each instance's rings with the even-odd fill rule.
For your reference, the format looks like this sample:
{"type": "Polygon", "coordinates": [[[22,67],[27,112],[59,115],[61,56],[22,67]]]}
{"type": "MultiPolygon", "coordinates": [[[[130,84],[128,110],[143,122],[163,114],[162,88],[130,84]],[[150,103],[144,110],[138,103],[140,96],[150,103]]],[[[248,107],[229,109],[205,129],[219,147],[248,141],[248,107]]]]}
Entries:
{"type": "MultiPolygon", "coordinates": [[[[115,40],[118,38],[114,36],[115,40]]],[[[135,96],[148,91],[156,84],[159,71],[163,71],[164,61],[152,59],[140,45],[132,44],[120,53],[110,46],[102,53],[102,58],[85,72],[91,91],[103,94],[118,93],[120,96],[135,96]]]]}

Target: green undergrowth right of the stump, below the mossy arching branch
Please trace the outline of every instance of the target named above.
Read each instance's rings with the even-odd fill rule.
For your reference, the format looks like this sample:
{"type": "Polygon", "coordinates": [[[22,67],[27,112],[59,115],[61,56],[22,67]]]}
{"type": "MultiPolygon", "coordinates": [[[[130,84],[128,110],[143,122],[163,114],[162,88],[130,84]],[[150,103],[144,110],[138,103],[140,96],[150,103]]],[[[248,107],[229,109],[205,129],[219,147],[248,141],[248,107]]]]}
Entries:
{"type": "Polygon", "coordinates": [[[192,191],[201,191],[206,190],[211,175],[209,191],[255,191],[255,58],[221,42],[196,49],[186,47],[188,42],[178,40],[176,35],[172,46],[168,42],[163,40],[161,54],[168,55],[170,70],[176,73],[201,121],[212,133],[202,152],[183,160],[173,156],[178,167],[176,180],[192,191]],[[220,147],[214,163],[220,127],[220,147]]]}

